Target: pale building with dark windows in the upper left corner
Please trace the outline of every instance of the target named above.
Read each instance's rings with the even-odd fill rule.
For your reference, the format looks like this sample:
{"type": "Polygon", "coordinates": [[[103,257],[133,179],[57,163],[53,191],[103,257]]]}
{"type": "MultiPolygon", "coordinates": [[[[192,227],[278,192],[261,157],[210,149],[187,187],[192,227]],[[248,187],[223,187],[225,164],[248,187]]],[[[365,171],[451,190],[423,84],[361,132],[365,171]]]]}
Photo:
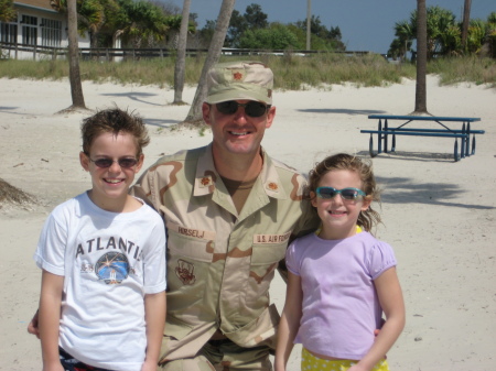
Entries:
{"type": "MultiPolygon", "coordinates": [[[[51,0],[14,0],[18,17],[0,22],[0,47],[12,58],[52,57],[54,47],[67,47],[67,18],[51,0]]],[[[89,37],[79,35],[79,47],[89,47],[89,37]]]]}

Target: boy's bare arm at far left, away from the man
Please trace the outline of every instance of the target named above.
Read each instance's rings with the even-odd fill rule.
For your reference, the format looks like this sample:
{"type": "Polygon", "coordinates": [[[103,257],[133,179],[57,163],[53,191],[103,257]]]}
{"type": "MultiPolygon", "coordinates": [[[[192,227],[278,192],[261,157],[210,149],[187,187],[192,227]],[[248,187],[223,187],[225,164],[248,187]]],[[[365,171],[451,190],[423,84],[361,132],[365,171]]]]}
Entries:
{"type": "Polygon", "coordinates": [[[58,358],[58,331],[63,286],[64,276],[43,270],[39,327],[44,371],[63,371],[58,358]]]}

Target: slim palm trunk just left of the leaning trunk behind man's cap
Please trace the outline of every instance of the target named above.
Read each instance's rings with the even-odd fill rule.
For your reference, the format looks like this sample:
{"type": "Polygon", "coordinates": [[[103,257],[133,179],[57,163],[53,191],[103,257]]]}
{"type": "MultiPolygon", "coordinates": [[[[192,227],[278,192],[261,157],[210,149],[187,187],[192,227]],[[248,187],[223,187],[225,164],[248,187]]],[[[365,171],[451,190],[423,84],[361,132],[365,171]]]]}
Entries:
{"type": "Polygon", "coordinates": [[[177,56],[174,68],[174,102],[173,105],[183,105],[184,74],[186,69],[186,43],[187,43],[187,25],[190,23],[190,4],[191,0],[184,0],[183,14],[181,19],[181,28],[177,43],[177,56]]]}

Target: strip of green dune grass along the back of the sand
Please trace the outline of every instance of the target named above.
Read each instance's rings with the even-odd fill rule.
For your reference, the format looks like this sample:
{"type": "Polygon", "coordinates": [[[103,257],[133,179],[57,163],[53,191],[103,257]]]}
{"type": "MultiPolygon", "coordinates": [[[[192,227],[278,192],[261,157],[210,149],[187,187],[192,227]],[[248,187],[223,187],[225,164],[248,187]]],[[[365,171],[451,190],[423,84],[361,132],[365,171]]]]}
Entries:
{"type": "MultiPolygon", "coordinates": [[[[205,54],[186,58],[185,84],[195,86],[202,73],[205,54]]],[[[392,64],[382,56],[368,54],[347,56],[335,53],[319,53],[296,56],[222,56],[227,61],[261,61],[274,72],[274,88],[302,90],[309,87],[322,88],[332,84],[351,83],[360,86],[384,86],[397,84],[401,78],[416,78],[416,66],[410,63],[392,64]]],[[[120,63],[80,61],[83,80],[115,84],[174,85],[175,58],[153,58],[120,63]]],[[[442,84],[468,81],[489,84],[496,87],[496,62],[490,58],[452,57],[430,62],[428,72],[439,74],[442,84]]],[[[66,61],[14,61],[2,59],[0,77],[60,80],[68,76],[66,61]]]]}

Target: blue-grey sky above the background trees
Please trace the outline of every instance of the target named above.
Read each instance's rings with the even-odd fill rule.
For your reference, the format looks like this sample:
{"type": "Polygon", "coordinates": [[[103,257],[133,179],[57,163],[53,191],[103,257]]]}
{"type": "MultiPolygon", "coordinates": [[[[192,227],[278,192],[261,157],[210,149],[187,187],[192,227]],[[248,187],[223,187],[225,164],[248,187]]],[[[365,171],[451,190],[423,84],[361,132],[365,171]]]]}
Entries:
{"type": "MultiPolygon", "coordinates": [[[[162,0],[182,9],[183,0],[162,0]]],[[[216,20],[222,0],[191,0],[192,13],[197,13],[200,29],[207,20],[216,20]]],[[[241,14],[252,3],[261,7],[269,22],[292,23],[306,20],[308,0],[237,0],[241,14]]],[[[427,7],[451,10],[462,20],[464,0],[427,0],[427,7]]],[[[338,26],[347,51],[386,54],[395,39],[395,23],[410,19],[416,0],[311,0],[312,15],[319,15],[327,29],[338,26]]],[[[472,0],[471,18],[484,21],[496,11],[496,0],[472,0]]]]}

